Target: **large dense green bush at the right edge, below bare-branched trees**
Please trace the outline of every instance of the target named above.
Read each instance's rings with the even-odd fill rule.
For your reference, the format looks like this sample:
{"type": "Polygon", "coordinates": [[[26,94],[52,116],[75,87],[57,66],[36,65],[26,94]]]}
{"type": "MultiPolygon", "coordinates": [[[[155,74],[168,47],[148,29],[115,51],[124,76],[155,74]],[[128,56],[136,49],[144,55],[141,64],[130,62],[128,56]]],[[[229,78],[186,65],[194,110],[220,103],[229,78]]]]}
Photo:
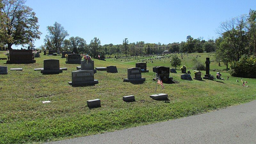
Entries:
{"type": "Polygon", "coordinates": [[[256,78],[256,58],[254,56],[243,55],[239,61],[233,61],[230,63],[230,69],[228,72],[231,76],[256,78]]]}

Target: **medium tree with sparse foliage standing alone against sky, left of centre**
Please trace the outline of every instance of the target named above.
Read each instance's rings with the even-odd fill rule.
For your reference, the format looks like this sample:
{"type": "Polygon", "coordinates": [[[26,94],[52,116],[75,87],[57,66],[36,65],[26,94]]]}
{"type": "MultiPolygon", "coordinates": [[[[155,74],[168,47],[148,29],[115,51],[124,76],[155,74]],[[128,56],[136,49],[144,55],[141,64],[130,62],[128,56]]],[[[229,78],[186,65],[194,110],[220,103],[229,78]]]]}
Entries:
{"type": "Polygon", "coordinates": [[[48,35],[44,39],[45,44],[50,42],[52,46],[50,49],[61,51],[64,39],[69,35],[68,32],[58,22],[55,22],[53,26],[48,26],[47,31],[48,35]]]}

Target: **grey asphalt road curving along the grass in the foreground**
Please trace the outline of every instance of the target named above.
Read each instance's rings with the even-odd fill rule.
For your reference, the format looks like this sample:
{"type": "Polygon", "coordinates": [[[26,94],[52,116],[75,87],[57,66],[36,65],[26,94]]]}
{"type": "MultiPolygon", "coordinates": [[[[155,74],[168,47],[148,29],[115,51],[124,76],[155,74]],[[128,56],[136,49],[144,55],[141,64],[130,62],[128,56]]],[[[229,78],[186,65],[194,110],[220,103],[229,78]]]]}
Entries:
{"type": "Polygon", "coordinates": [[[256,100],[206,114],[51,143],[256,143],[256,100]]]}

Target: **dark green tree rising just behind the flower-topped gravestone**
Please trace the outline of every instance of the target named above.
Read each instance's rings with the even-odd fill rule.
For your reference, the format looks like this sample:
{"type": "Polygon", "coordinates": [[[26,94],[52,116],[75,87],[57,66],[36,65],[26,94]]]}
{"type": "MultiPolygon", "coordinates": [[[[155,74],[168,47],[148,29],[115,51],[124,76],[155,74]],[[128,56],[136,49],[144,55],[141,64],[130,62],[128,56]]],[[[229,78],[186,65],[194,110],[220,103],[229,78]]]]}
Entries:
{"type": "Polygon", "coordinates": [[[100,54],[100,51],[101,51],[100,39],[97,37],[94,37],[91,40],[91,43],[89,44],[90,55],[93,58],[97,58],[97,56],[100,54]]]}

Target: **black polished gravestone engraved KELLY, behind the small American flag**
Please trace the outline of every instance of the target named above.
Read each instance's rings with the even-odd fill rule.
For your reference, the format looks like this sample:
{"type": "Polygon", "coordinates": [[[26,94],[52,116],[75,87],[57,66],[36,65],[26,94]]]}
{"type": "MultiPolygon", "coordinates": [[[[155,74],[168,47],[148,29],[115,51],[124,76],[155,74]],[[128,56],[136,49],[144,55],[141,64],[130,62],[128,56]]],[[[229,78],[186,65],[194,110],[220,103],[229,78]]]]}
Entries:
{"type": "MultiPolygon", "coordinates": [[[[156,67],[157,77],[160,77],[163,83],[171,83],[172,77],[170,76],[170,67],[156,67]]],[[[155,80],[155,79],[154,79],[155,80]]]]}

